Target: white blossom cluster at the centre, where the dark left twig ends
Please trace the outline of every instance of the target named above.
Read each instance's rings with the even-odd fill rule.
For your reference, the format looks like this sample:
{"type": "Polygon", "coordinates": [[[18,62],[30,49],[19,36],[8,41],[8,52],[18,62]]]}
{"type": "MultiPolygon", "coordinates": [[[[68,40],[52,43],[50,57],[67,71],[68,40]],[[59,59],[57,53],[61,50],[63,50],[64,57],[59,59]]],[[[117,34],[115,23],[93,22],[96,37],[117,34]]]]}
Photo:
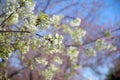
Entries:
{"type": "Polygon", "coordinates": [[[55,34],[55,35],[47,35],[45,36],[45,43],[44,45],[47,45],[46,48],[49,50],[50,54],[53,53],[60,53],[62,51],[62,39],[63,36],[55,34]]]}

